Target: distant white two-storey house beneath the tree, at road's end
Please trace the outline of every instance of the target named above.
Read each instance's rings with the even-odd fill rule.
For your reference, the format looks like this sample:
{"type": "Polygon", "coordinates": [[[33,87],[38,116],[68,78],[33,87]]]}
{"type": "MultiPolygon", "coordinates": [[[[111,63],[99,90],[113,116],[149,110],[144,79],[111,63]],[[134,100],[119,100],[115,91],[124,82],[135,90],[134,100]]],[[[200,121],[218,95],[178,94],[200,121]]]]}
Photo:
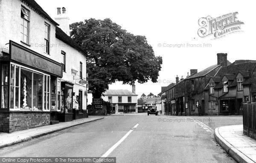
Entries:
{"type": "Polygon", "coordinates": [[[132,92],[126,89],[108,89],[102,94],[102,99],[111,103],[113,114],[138,112],[138,95],[135,94],[135,85],[132,86],[132,92]]]}

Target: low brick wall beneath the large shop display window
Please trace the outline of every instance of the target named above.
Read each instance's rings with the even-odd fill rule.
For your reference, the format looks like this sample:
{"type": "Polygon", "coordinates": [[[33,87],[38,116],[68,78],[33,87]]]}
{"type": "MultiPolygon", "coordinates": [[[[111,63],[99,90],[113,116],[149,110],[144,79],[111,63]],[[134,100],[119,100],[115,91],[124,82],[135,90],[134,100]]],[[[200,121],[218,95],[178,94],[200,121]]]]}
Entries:
{"type": "Polygon", "coordinates": [[[46,112],[7,112],[1,113],[0,132],[46,126],[50,124],[50,113],[46,112]],[[2,126],[3,124],[3,126],[2,126]]]}

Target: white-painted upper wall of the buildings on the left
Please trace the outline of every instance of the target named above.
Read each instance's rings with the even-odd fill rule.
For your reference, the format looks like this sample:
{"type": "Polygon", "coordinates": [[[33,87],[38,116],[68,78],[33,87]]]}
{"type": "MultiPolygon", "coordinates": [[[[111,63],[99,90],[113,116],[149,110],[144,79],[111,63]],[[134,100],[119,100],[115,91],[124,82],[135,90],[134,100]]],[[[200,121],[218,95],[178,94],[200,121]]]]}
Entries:
{"type": "MultiPolygon", "coordinates": [[[[29,8],[20,0],[0,0],[0,48],[9,47],[6,43],[9,40],[38,52],[52,60],[61,63],[61,50],[66,52],[66,72],[63,72],[62,81],[69,81],[74,84],[73,92],[79,94],[79,89],[83,90],[83,109],[86,109],[87,92],[86,84],[79,84],[80,62],[83,63],[83,77],[86,80],[86,57],[78,50],[58,40],[55,37],[55,26],[38,13],[29,8]],[[30,11],[29,22],[29,45],[20,42],[20,9],[21,5],[30,11]],[[50,25],[49,54],[44,53],[44,23],[50,25]],[[71,69],[76,69],[77,75],[72,74],[71,69]],[[76,80],[78,79],[78,80],[76,80]]],[[[78,109],[78,108],[77,108],[78,109]]]]}

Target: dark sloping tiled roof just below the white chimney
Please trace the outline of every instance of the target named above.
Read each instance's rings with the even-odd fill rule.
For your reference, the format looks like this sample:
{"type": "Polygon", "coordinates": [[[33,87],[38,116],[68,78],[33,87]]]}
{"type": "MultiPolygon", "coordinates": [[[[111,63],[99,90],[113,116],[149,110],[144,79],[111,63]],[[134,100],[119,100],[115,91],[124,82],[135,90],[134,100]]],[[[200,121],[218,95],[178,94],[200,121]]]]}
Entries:
{"type": "Polygon", "coordinates": [[[64,31],[62,31],[57,26],[56,26],[56,38],[63,41],[64,43],[67,43],[68,45],[72,46],[73,48],[77,49],[78,51],[86,55],[83,49],[81,49],[80,46],[70,36],[68,36],[64,31]]]}

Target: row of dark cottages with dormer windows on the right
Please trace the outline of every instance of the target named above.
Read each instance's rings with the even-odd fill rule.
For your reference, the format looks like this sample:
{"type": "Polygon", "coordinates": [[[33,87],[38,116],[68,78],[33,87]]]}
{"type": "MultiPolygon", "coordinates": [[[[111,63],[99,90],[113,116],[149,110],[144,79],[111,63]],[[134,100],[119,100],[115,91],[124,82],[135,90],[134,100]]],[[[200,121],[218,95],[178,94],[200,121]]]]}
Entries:
{"type": "Polygon", "coordinates": [[[254,60],[230,63],[227,54],[218,53],[216,65],[200,72],[191,69],[162,91],[166,114],[198,115],[200,104],[203,115],[241,115],[242,103],[256,102],[255,66],[254,60]]]}

